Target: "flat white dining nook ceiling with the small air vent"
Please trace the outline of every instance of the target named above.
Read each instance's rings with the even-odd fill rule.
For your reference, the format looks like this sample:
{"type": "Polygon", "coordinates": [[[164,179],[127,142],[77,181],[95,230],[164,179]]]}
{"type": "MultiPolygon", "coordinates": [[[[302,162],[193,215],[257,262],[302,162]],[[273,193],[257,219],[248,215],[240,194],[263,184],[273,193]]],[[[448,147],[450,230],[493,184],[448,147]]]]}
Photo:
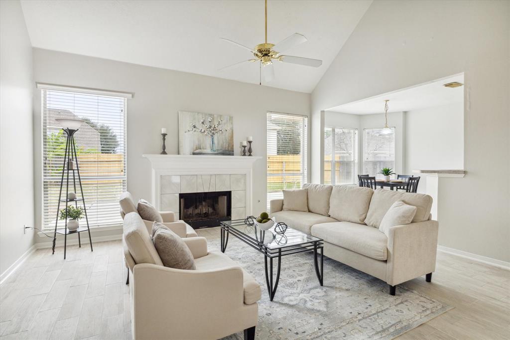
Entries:
{"type": "Polygon", "coordinates": [[[379,94],[371,98],[330,108],[327,111],[351,114],[384,113],[384,101],[389,99],[388,112],[419,110],[426,107],[462,103],[464,86],[449,88],[444,84],[459,82],[464,84],[464,74],[443,78],[406,89],[379,94]]]}

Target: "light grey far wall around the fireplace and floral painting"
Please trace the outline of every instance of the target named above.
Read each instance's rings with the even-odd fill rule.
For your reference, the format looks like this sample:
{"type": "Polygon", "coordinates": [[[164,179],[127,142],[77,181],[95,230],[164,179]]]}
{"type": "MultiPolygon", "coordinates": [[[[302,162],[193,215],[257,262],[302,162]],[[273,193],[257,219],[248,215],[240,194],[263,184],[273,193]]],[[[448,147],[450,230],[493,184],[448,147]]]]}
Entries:
{"type": "MultiPolygon", "coordinates": [[[[253,136],[254,156],[266,155],[267,111],[310,113],[308,93],[38,48],[34,48],[34,78],[37,82],[135,93],[127,100],[127,189],[135,199],[150,200],[150,163],[142,154],[161,152],[161,128],[168,129],[166,151],[179,153],[179,110],[232,115],[234,145],[253,136]]],[[[35,91],[35,178],[36,199],[40,200],[41,95],[35,91]]],[[[239,155],[241,148],[235,152],[239,155]]],[[[253,187],[253,211],[264,211],[265,159],[255,163],[253,187]]],[[[40,221],[39,210],[36,221],[40,221]]]]}

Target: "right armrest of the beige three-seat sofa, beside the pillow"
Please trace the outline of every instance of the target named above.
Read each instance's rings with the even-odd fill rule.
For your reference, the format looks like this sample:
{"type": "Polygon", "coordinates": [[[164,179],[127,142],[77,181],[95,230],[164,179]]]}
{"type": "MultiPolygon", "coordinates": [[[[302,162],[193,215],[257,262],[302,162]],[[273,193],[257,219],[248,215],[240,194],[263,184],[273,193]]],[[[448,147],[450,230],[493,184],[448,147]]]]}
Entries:
{"type": "Polygon", "coordinates": [[[433,220],[390,228],[386,282],[394,286],[436,270],[438,229],[433,220]]]}

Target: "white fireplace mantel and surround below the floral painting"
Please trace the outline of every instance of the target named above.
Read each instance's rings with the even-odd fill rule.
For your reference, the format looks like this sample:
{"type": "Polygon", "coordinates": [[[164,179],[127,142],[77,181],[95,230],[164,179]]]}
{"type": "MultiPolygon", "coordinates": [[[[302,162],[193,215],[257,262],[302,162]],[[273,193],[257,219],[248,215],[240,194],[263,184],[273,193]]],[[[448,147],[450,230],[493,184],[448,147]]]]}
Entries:
{"type": "MultiPolygon", "coordinates": [[[[172,176],[189,179],[191,176],[194,179],[196,175],[198,182],[200,177],[207,177],[211,181],[211,176],[228,175],[232,179],[239,178],[236,175],[245,178],[244,188],[236,189],[239,190],[236,193],[245,197],[245,207],[243,209],[238,208],[237,213],[239,215],[250,215],[252,210],[252,191],[253,191],[253,163],[258,159],[262,159],[260,156],[209,156],[209,155],[154,155],[144,154],[143,157],[147,158],[152,167],[152,203],[162,209],[163,205],[168,205],[168,202],[175,202],[175,193],[172,191],[162,192],[162,176],[172,176]],[[191,175],[191,176],[190,176],[191,175]],[[202,175],[202,176],[201,176],[202,175]],[[208,176],[211,175],[211,176],[208,176]],[[183,177],[184,176],[184,177],[183,177]],[[242,192],[244,189],[244,192],[242,192]],[[170,194],[170,195],[169,195],[170,194]]],[[[223,176],[224,177],[224,176],[223,176]]],[[[168,177],[163,177],[167,178],[168,177]]],[[[179,184],[181,185],[181,184],[179,184]]],[[[163,185],[165,187],[165,185],[163,185]]],[[[232,189],[234,190],[234,188],[232,189]]],[[[201,191],[196,189],[197,192],[201,191]]],[[[204,190],[205,191],[205,190],[204,190]]],[[[212,190],[219,191],[219,190],[212,190]]],[[[181,190],[180,190],[181,192],[181,190]]],[[[182,191],[185,192],[185,191],[182,191]]],[[[187,191],[190,192],[190,191],[187,191]]],[[[241,196],[241,197],[242,197],[241,196]]],[[[173,204],[176,206],[176,204],[173,204]]],[[[234,206],[233,206],[234,207],[234,206]]],[[[175,210],[175,209],[173,209],[175,210]]],[[[172,211],[173,211],[172,210],[172,211]]],[[[174,211],[176,212],[176,211],[174,211]]],[[[233,211],[234,218],[234,211],[233,211]]]]}

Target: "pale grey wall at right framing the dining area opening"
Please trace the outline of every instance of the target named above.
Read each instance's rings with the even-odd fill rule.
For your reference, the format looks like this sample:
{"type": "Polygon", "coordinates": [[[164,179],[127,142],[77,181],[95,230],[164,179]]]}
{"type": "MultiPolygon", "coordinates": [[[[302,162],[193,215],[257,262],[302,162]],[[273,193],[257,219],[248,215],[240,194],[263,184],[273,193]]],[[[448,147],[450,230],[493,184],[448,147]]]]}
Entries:
{"type": "Polygon", "coordinates": [[[312,93],[312,180],[324,109],[464,72],[464,178],[445,178],[439,244],[510,261],[510,2],[376,1],[312,93]]]}

